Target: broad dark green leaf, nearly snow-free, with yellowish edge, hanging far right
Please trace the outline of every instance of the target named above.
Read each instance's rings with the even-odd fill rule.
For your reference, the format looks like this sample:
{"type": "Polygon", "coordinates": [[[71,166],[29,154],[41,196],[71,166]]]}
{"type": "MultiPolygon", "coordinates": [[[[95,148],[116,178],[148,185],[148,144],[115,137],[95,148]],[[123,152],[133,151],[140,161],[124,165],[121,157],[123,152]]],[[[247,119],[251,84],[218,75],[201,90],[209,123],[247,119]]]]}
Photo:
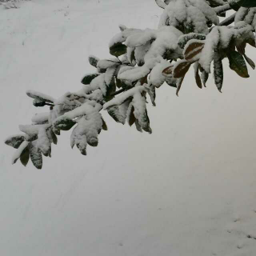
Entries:
{"type": "Polygon", "coordinates": [[[227,54],[230,61],[230,69],[234,70],[240,77],[249,78],[246,62],[241,54],[235,50],[230,50],[227,54]]]}

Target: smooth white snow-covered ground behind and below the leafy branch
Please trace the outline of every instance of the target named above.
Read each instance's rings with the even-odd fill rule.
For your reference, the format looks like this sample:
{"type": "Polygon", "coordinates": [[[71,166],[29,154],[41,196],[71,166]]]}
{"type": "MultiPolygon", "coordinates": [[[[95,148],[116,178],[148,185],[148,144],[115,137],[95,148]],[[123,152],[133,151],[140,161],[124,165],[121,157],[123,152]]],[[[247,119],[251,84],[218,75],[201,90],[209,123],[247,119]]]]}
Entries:
{"type": "MultiPolygon", "coordinates": [[[[256,73],[225,64],[222,94],[192,72],[179,97],[157,90],[153,134],[103,113],[108,131],[82,156],[70,132],[42,170],[10,164],[4,139],[30,123],[26,90],[76,91],[87,58],[110,57],[118,24],[157,28],[154,0],[32,0],[0,6],[0,255],[256,255],[256,73]]],[[[250,48],[256,60],[256,50],[250,48]]]]}

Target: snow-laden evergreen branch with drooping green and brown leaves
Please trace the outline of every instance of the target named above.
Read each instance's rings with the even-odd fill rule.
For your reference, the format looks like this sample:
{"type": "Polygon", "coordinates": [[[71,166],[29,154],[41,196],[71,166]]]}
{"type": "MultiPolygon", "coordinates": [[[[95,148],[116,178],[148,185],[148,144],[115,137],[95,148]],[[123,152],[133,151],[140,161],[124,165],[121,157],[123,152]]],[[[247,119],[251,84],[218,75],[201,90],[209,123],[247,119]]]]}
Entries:
{"type": "MultiPolygon", "coordinates": [[[[0,1],[2,2],[2,1],[0,1]]],[[[71,130],[70,145],[86,155],[86,147],[98,146],[98,134],[107,130],[101,111],[106,110],[116,122],[135,126],[151,133],[146,99],[155,106],[156,89],[167,84],[181,90],[190,66],[194,66],[195,83],[206,86],[213,71],[214,83],[222,91],[222,60],[228,58],[230,69],[249,78],[246,46],[256,47],[256,1],[254,0],[155,0],[163,9],[157,30],[119,26],[120,32],[110,41],[109,59],[89,57],[94,74],[82,78],[82,89],[52,98],[29,90],[37,107],[50,111],[36,114],[32,124],[19,126],[23,134],[6,139],[17,151],[24,166],[29,159],[42,168],[42,155],[50,157],[56,135],[71,130]],[[226,17],[228,10],[234,10],[226,17]],[[212,65],[213,64],[213,65],[212,65]]]]}

